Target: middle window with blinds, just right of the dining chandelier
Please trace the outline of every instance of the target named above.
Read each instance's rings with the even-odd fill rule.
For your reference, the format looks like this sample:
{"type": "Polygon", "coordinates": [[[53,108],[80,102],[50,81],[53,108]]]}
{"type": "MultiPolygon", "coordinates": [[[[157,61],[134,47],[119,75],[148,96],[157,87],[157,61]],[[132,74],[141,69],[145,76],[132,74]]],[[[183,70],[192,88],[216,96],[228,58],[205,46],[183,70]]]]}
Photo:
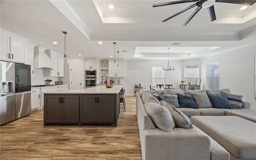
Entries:
{"type": "Polygon", "coordinates": [[[185,66],[184,80],[186,84],[188,84],[188,82],[191,82],[191,84],[196,84],[198,73],[199,73],[198,65],[185,66]]]}

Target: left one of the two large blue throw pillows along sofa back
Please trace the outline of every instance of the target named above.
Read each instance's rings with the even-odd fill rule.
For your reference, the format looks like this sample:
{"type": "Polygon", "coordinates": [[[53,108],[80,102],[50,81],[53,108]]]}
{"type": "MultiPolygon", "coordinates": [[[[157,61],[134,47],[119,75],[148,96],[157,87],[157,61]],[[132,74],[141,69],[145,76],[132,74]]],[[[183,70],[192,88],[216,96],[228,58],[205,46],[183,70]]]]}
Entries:
{"type": "Polygon", "coordinates": [[[178,93],[180,108],[198,108],[192,95],[183,95],[178,93]]]}

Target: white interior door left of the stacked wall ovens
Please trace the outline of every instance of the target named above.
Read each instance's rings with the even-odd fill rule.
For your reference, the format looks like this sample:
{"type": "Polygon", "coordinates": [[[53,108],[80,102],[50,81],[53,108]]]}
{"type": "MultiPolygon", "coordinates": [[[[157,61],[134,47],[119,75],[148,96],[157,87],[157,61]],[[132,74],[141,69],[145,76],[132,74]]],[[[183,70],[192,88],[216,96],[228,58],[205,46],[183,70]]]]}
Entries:
{"type": "Polygon", "coordinates": [[[82,67],[70,66],[70,90],[82,89],[82,67]]]}

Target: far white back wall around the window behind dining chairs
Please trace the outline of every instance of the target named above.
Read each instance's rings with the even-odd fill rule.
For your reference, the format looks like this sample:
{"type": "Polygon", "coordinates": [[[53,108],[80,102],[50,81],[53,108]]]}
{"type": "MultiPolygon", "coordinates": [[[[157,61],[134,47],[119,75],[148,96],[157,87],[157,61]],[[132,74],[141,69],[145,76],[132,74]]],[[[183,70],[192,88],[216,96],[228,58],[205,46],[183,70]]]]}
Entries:
{"type": "MultiPolygon", "coordinates": [[[[172,84],[174,88],[180,87],[182,77],[181,61],[170,61],[170,66],[174,66],[175,70],[165,71],[164,83],[172,84]]],[[[152,66],[164,66],[167,68],[167,60],[126,60],[125,61],[125,84],[126,95],[134,95],[134,85],[141,84],[149,90],[152,86],[152,66]]]]}

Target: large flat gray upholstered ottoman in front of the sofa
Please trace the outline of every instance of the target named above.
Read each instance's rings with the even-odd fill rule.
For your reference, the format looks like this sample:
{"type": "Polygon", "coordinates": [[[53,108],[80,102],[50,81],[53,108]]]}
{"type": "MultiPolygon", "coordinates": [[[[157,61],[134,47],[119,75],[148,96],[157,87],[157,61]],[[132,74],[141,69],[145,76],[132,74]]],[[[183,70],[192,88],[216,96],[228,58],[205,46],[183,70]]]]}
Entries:
{"type": "Polygon", "coordinates": [[[200,128],[230,153],[230,160],[256,159],[256,123],[237,116],[191,116],[200,128]]]}

